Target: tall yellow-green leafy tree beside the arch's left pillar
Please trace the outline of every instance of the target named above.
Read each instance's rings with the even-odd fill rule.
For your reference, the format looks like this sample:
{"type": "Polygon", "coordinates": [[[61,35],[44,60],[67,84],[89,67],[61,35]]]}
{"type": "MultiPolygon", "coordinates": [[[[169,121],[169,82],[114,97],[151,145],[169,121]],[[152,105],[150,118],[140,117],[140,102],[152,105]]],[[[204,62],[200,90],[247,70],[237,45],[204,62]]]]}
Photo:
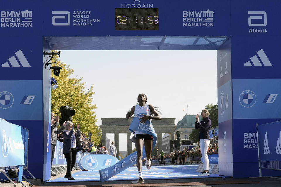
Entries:
{"type": "Polygon", "coordinates": [[[58,56],[54,56],[52,62],[56,62],[56,66],[62,67],[59,76],[55,76],[53,71],[51,72],[51,76],[59,84],[57,89],[51,91],[52,112],[60,114],[61,106],[71,106],[75,110],[75,115],[72,117],[73,124],[80,124],[80,130],[83,133],[91,132],[91,140],[94,143],[100,143],[102,132],[100,127],[95,124],[97,119],[94,110],[97,107],[91,104],[91,97],[95,93],[94,85],[85,91],[85,82],[82,82],[82,77],[70,78],[74,70],[69,65],[66,66],[61,62],[58,56]]]}

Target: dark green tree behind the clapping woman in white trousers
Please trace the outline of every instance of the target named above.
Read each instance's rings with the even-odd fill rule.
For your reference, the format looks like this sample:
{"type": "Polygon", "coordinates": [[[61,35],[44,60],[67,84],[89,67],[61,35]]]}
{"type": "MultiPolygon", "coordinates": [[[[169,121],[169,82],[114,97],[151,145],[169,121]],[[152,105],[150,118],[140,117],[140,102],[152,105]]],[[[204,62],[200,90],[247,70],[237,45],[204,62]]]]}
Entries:
{"type": "MultiPolygon", "coordinates": [[[[212,121],[211,128],[216,127],[218,125],[217,105],[208,104],[205,106],[205,109],[208,109],[210,113],[209,118],[212,121]]],[[[195,142],[199,141],[199,129],[192,129],[189,139],[194,140],[195,142]]]]}

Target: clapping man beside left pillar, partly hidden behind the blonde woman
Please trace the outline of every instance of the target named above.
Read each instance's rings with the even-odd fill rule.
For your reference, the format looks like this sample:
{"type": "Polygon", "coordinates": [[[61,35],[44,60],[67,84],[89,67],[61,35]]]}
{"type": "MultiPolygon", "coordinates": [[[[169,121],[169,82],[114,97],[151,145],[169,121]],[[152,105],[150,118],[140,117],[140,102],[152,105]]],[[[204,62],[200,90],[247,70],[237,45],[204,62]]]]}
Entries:
{"type": "MultiPolygon", "coordinates": [[[[54,153],[55,153],[55,149],[56,149],[56,141],[57,141],[57,134],[60,134],[62,131],[64,131],[64,126],[61,125],[61,127],[59,129],[57,129],[56,127],[59,125],[59,116],[56,116],[55,118],[55,114],[52,112],[51,113],[51,168],[52,168],[52,162],[54,160],[54,153]]],[[[56,174],[51,173],[52,176],[56,176],[56,174]]]]}

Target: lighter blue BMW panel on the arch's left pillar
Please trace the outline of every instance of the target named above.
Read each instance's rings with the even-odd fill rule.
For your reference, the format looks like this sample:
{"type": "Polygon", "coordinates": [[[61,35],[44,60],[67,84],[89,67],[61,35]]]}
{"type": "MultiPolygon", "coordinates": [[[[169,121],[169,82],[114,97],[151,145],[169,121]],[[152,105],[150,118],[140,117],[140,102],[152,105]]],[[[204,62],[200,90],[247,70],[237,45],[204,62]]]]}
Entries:
{"type": "Polygon", "coordinates": [[[41,80],[0,80],[0,112],[6,120],[42,120],[41,80]]]}

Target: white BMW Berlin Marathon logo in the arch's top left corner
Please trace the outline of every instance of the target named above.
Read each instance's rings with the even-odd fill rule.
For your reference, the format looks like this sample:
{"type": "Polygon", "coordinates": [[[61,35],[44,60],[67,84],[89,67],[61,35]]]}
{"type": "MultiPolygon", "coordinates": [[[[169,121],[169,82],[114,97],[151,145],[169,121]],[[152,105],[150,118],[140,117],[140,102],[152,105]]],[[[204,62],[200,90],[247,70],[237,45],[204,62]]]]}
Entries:
{"type": "Polygon", "coordinates": [[[1,11],[1,27],[32,27],[32,11],[1,11]]]}

